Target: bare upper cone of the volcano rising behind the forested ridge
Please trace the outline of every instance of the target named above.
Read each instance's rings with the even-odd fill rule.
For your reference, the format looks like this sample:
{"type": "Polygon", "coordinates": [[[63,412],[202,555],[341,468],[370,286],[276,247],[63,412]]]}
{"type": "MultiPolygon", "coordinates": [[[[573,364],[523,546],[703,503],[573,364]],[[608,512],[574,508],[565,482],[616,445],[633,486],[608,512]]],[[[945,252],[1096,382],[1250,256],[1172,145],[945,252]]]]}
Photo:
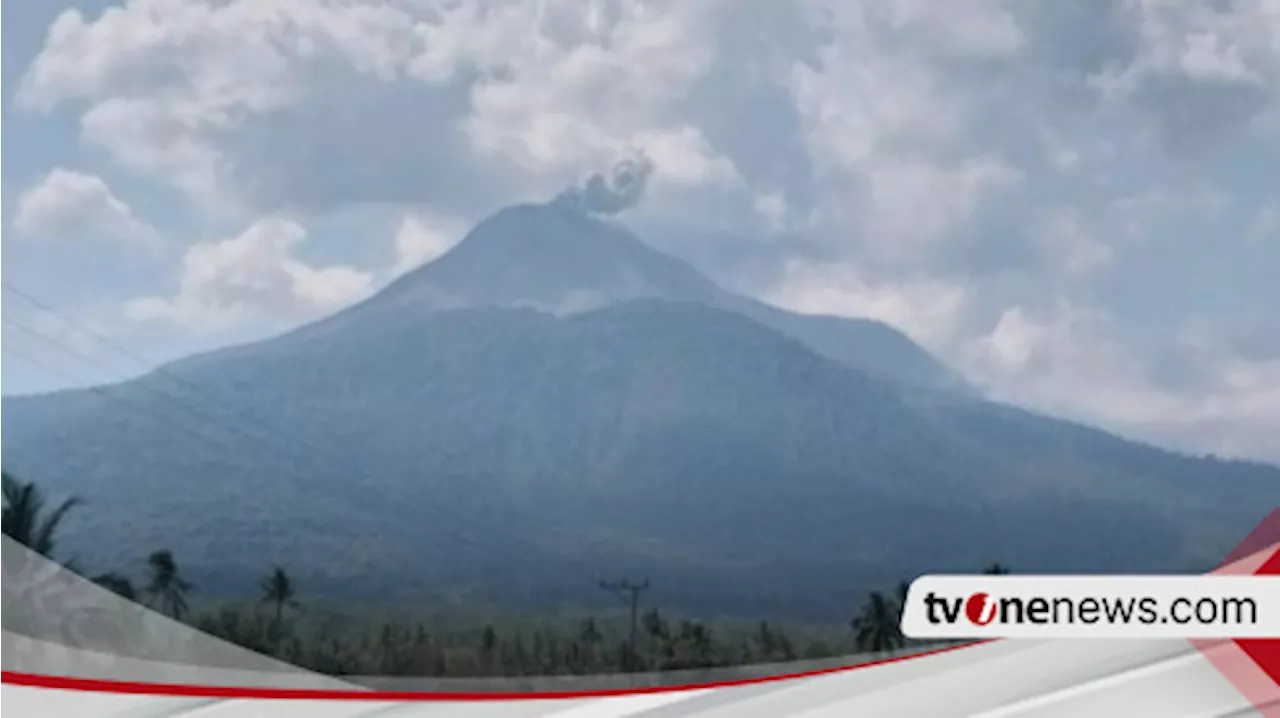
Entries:
{"type": "Polygon", "coordinates": [[[394,321],[388,315],[404,312],[530,307],[566,315],[641,298],[732,311],[850,367],[911,385],[965,389],[927,351],[883,323],[801,315],[733,294],[686,262],[649,247],[626,228],[566,202],[502,210],[444,256],[305,331],[394,321]]]}

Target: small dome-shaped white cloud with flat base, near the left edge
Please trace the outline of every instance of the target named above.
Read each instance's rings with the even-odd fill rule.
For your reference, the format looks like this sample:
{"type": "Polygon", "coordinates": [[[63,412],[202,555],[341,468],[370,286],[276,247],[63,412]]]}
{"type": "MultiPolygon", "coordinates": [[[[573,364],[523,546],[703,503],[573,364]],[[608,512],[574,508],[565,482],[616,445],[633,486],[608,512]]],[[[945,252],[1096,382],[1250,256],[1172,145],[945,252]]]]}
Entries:
{"type": "Polygon", "coordinates": [[[102,178],[56,168],[27,188],[17,202],[13,228],[31,237],[106,237],[150,243],[155,229],[138,220],[102,178]]]}

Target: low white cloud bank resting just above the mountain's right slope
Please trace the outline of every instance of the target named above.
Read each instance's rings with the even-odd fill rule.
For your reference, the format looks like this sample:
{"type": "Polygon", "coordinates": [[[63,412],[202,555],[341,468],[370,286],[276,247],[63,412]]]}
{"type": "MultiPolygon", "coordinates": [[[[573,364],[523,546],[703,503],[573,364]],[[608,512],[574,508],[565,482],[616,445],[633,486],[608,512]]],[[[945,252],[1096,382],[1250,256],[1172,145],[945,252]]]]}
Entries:
{"type": "Polygon", "coordinates": [[[1060,303],[1042,312],[1007,308],[952,358],[1001,401],[1188,451],[1280,461],[1280,361],[1225,358],[1211,338],[1197,346],[1184,348],[1212,367],[1207,388],[1161,387],[1126,348],[1121,328],[1060,303]]]}

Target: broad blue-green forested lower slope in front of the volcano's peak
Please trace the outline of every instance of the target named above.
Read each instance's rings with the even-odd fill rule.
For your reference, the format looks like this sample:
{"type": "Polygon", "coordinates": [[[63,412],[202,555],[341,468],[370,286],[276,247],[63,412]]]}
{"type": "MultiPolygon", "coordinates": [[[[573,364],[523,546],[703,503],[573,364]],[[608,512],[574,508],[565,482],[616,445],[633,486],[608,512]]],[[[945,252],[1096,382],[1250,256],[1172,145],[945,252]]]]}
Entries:
{"type": "Polygon", "coordinates": [[[86,562],[169,546],[209,590],[279,561],[317,591],[591,602],[622,573],[663,605],[822,618],[992,559],[1203,568],[1280,497],[1272,468],[908,402],[696,302],[351,316],[170,367],[236,420],[169,411],[163,374],[111,388],[146,411],[0,401],[0,462],[88,499],[86,562]]]}

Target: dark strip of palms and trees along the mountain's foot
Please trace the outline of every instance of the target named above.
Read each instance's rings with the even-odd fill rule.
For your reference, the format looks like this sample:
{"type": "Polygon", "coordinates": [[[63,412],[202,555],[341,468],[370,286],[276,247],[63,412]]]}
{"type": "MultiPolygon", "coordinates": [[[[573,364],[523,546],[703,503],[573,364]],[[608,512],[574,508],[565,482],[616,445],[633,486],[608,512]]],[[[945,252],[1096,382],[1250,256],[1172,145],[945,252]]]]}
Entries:
{"type": "MultiPolygon", "coordinates": [[[[246,649],[328,674],[585,676],[833,658],[895,651],[911,644],[900,630],[906,581],[890,591],[870,591],[854,607],[846,627],[826,635],[813,628],[791,632],[768,621],[744,626],[666,616],[639,600],[645,584],[602,584],[625,603],[632,594],[637,599],[621,617],[504,614],[484,625],[428,628],[401,616],[365,616],[338,627],[324,619],[326,614],[333,618],[333,612],[308,610],[300,586],[279,566],[265,568],[259,585],[246,587],[243,600],[201,609],[193,607],[197,586],[183,576],[170,550],[145,557],[141,580],[61,561],[58,529],[79,504],[69,498],[49,506],[37,485],[0,471],[0,534],[128,600],[246,649]]],[[[1004,573],[1006,568],[997,563],[986,572],[1004,573]]]]}

